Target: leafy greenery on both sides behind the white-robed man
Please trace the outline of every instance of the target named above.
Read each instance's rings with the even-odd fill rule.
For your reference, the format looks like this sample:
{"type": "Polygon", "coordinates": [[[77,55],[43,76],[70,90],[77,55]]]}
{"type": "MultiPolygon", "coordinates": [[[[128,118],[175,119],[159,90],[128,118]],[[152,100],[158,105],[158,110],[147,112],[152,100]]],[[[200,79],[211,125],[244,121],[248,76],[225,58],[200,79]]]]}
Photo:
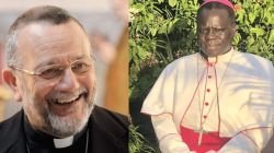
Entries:
{"type": "MultiPolygon", "coordinates": [[[[198,50],[196,11],[201,1],[129,1],[129,101],[135,103],[144,101],[168,63],[198,50]]],[[[274,63],[274,1],[232,0],[232,3],[238,25],[235,48],[274,63]]],[[[136,152],[130,149],[130,153],[136,152]]]]}

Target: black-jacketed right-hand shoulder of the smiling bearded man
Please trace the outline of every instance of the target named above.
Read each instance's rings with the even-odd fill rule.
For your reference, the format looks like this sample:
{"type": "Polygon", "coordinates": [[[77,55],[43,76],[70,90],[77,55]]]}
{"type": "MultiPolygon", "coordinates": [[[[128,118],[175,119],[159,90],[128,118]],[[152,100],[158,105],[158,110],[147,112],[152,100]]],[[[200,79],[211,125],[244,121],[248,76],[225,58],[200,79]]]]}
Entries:
{"type": "Polygon", "coordinates": [[[126,116],[94,106],[90,126],[98,146],[101,142],[121,153],[127,151],[129,121],[126,116]]]}

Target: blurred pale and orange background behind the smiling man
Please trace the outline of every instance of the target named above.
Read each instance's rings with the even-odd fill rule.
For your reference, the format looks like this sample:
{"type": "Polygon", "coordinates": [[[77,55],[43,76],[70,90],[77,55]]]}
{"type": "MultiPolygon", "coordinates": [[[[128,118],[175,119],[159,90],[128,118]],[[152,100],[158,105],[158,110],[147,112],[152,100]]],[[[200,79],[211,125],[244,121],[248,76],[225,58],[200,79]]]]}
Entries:
{"type": "MultiPolygon", "coordinates": [[[[95,103],[128,115],[127,0],[1,0],[0,71],[3,69],[3,43],[12,22],[35,5],[57,5],[80,21],[92,43],[96,59],[95,103]]],[[[0,78],[0,121],[21,109],[0,78]]]]}

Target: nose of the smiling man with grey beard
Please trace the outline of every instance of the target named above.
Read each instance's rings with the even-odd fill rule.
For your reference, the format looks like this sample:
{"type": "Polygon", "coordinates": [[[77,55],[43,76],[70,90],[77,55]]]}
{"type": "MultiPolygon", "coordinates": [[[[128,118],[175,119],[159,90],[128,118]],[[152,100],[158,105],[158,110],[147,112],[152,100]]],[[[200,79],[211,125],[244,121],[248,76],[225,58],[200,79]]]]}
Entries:
{"type": "Polygon", "coordinates": [[[75,91],[80,87],[77,75],[71,69],[66,69],[56,86],[59,91],[75,91]]]}

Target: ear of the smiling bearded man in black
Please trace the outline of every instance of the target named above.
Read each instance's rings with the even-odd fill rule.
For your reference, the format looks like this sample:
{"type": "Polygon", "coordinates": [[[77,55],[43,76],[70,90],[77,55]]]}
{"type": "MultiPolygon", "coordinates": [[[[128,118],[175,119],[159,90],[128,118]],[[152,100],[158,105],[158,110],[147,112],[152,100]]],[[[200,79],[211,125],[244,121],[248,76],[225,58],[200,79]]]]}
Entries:
{"type": "Polygon", "coordinates": [[[13,74],[13,72],[9,69],[4,69],[2,70],[2,76],[3,76],[3,81],[12,89],[12,91],[14,92],[14,98],[18,102],[22,101],[22,95],[20,93],[19,90],[19,85],[18,85],[18,80],[16,76],[13,74]]]}

